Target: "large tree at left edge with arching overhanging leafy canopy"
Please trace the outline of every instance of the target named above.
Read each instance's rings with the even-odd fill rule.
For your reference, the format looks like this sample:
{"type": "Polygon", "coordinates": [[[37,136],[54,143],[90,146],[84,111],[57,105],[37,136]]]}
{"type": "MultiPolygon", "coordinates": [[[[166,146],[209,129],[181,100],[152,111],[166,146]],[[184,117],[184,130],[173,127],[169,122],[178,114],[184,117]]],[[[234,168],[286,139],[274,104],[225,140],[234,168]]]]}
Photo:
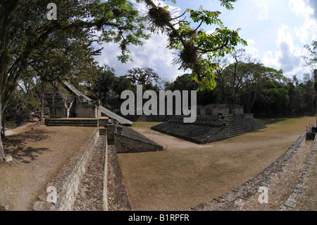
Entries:
{"type": "MultiPolygon", "coordinates": [[[[125,1],[61,1],[57,20],[46,18],[46,6],[50,1],[4,0],[0,4],[0,121],[18,80],[30,68],[30,59],[46,45],[54,44],[51,39],[68,34],[73,39],[94,39],[95,30],[110,28],[103,32],[104,41],[120,43],[122,61],[127,60],[128,44],[141,44],[144,34],[142,17],[131,3],[125,1]],[[120,11],[120,16],[114,13],[120,11]],[[90,18],[90,20],[87,20],[90,18]],[[125,18],[125,19],[122,19],[125,18]],[[133,37],[133,38],[132,38],[133,37]]],[[[83,51],[91,48],[87,45],[83,51]]],[[[1,124],[1,123],[0,123],[1,124]]],[[[0,159],[4,150],[0,140],[0,159]]]]}

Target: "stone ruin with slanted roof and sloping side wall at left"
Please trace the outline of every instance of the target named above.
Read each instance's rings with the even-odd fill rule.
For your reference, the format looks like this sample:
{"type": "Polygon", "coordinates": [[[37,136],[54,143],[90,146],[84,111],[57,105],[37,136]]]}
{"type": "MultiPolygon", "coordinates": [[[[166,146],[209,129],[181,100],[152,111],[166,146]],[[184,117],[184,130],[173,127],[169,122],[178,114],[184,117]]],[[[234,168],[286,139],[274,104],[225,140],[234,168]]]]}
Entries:
{"type": "Polygon", "coordinates": [[[151,152],[163,150],[161,145],[121,126],[132,122],[83,95],[69,83],[56,85],[46,96],[51,118],[45,119],[46,126],[89,126],[99,127],[101,135],[107,135],[109,145],[116,145],[118,153],[151,152]],[[102,128],[103,127],[103,128],[102,128]]]}

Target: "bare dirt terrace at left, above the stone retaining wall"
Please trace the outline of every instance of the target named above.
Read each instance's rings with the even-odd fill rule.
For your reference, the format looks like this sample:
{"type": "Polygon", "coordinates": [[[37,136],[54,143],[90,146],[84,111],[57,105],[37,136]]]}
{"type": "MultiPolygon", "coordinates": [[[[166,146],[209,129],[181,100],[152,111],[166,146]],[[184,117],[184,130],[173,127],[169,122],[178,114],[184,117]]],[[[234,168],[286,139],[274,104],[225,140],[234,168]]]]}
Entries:
{"type": "Polygon", "coordinates": [[[13,162],[0,164],[0,209],[30,210],[41,188],[85,146],[94,129],[41,125],[8,136],[4,149],[13,162]]]}

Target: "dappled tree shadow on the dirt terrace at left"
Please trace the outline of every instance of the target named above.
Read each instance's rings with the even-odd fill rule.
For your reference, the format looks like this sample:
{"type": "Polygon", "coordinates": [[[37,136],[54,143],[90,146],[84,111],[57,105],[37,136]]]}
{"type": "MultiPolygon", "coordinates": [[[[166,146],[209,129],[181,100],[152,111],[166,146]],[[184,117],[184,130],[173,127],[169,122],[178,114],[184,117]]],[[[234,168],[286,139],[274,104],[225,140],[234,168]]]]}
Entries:
{"type": "Polygon", "coordinates": [[[4,139],[4,152],[11,155],[14,159],[19,159],[25,164],[35,160],[42,152],[50,151],[46,147],[31,147],[33,142],[39,142],[49,137],[47,131],[32,130],[17,135],[12,135],[4,139]],[[28,146],[27,146],[28,145],[28,146]]]}

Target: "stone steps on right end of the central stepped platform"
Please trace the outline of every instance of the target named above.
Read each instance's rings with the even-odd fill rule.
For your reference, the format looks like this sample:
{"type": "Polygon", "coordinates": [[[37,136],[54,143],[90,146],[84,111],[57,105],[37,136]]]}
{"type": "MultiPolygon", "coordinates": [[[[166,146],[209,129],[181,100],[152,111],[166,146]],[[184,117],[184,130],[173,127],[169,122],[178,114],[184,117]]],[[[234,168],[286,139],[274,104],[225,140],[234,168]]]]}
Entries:
{"type": "Polygon", "coordinates": [[[266,126],[258,121],[256,118],[244,117],[240,115],[237,115],[228,120],[227,124],[229,126],[228,138],[266,128],[266,126]]]}

